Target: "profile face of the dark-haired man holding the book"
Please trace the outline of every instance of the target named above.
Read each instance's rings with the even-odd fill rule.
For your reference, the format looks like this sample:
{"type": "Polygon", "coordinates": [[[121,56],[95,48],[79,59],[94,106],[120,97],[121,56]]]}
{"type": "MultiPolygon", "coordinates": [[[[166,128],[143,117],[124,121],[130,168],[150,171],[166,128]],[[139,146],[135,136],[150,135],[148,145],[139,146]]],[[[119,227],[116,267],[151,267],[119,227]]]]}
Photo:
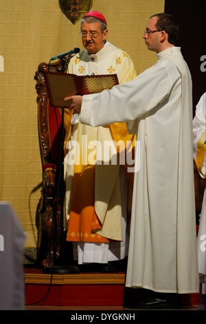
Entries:
{"type": "Polygon", "coordinates": [[[148,47],[148,50],[153,50],[157,53],[161,52],[162,31],[159,31],[155,23],[158,17],[152,17],[146,26],[146,31],[143,38],[148,47]]]}

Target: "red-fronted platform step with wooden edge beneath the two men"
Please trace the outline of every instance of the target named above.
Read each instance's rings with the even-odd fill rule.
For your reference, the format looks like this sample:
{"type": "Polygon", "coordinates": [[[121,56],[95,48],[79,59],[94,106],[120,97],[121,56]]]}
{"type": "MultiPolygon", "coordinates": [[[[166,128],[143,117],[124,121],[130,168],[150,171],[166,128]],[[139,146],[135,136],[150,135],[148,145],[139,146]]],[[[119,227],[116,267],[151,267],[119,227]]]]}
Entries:
{"type": "MultiPolygon", "coordinates": [[[[25,268],[26,305],[50,306],[123,306],[124,272],[44,274],[36,268],[25,268]]],[[[183,306],[201,305],[199,294],[183,294],[183,306]]]]}

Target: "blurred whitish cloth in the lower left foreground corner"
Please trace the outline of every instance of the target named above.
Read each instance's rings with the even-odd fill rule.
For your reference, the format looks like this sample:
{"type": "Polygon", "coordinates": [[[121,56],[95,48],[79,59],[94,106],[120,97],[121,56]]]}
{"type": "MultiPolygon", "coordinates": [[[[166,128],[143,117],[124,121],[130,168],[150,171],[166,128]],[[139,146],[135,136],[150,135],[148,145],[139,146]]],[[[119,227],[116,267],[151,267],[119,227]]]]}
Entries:
{"type": "Polygon", "coordinates": [[[0,202],[0,310],[24,310],[25,233],[10,203],[0,202]]]}

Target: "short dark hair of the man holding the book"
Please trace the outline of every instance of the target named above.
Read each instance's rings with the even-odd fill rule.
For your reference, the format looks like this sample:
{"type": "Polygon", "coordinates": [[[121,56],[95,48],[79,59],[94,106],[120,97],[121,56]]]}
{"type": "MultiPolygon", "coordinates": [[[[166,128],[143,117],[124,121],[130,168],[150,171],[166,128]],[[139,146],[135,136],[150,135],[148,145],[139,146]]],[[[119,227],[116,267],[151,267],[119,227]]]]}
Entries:
{"type": "Polygon", "coordinates": [[[165,12],[161,14],[152,14],[150,18],[157,17],[157,26],[160,30],[165,30],[168,34],[168,42],[172,45],[176,45],[179,39],[179,23],[172,14],[167,14],[165,12]]]}

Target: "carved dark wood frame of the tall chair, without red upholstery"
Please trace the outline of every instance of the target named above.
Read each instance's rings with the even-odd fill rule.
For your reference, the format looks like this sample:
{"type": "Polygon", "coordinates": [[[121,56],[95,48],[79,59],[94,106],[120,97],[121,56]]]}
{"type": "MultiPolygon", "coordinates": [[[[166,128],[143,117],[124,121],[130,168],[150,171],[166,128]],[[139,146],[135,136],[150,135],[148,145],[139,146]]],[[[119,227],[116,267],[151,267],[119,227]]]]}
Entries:
{"type": "MultiPolygon", "coordinates": [[[[65,72],[67,70],[71,55],[51,64],[45,62],[38,65],[34,79],[36,80],[37,111],[38,111],[38,138],[41,151],[41,162],[43,167],[42,194],[39,203],[38,214],[38,251],[41,244],[45,250],[45,259],[38,259],[42,267],[55,264],[60,252],[60,211],[57,196],[56,174],[58,165],[54,164],[51,154],[52,143],[49,134],[49,98],[47,86],[43,77],[44,71],[65,72]],[[63,71],[62,71],[63,70],[63,71]],[[42,236],[46,239],[43,243],[42,236]]],[[[60,145],[60,143],[59,143],[60,145]]],[[[39,255],[38,255],[39,256],[39,255]]]]}

